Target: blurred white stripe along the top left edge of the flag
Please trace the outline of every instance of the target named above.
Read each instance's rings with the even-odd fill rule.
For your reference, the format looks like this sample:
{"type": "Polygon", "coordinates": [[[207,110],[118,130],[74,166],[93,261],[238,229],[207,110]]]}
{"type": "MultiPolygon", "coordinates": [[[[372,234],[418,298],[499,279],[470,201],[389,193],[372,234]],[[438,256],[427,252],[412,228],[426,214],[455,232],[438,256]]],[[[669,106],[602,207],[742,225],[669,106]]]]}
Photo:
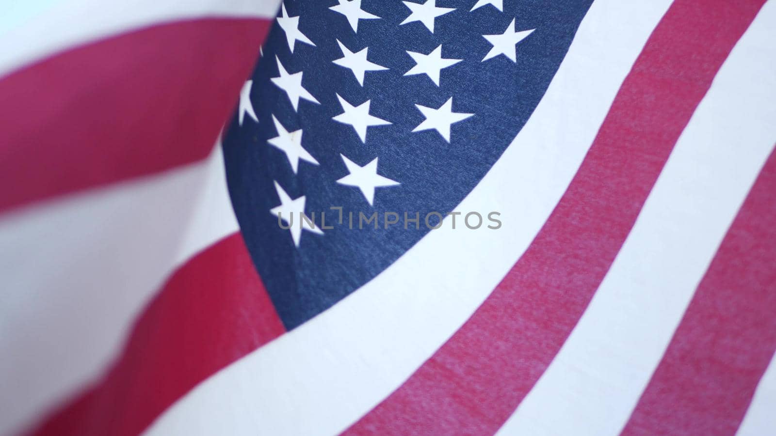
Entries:
{"type": "MultiPolygon", "coordinates": [[[[34,0],[29,0],[33,1],[34,0]]],[[[59,0],[23,9],[0,34],[0,78],[57,51],[161,22],[275,16],[279,0],[59,0]],[[41,10],[42,9],[42,10],[41,10]],[[32,17],[30,17],[32,16],[32,17]]]]}

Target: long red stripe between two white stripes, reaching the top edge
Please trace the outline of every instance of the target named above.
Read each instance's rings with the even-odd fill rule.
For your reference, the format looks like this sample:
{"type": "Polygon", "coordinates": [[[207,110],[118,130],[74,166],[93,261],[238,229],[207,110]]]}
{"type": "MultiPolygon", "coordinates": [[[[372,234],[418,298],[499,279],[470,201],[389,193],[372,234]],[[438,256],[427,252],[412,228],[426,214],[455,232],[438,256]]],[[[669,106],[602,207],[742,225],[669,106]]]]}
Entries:
{"type": "Polygon", "coordinates": [[[492,434],[559,348],[716,71],[763,4],[677,0],[549,220],[473,316],[346,434],[492,434]]]}

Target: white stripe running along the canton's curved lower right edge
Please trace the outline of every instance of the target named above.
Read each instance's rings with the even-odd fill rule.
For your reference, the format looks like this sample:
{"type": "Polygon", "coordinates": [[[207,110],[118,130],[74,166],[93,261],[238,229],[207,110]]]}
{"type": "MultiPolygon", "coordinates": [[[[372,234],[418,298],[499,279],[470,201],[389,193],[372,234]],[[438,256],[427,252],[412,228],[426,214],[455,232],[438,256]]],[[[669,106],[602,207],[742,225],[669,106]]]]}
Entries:
{"type": "Polygon", "coordinates": [[[500,211],[500,230],[445,223],[362,289],[203,382],[149,433],[334,434],[383,400],[528,247],[668,4],[594,2],[534,115],[457,208],[500,211]]]}

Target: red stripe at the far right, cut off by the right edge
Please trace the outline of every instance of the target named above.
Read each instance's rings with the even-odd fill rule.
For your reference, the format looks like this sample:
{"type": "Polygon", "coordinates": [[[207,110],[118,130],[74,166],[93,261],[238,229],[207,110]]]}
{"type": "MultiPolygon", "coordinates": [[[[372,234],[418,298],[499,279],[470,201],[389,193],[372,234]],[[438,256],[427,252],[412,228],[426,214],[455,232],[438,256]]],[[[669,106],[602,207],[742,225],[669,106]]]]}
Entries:
{"type": "Polygon", "coordinates": [[[774,223],[776,153],[722,240],[623,434],[736,433],[776,351],[774,223]]]}

